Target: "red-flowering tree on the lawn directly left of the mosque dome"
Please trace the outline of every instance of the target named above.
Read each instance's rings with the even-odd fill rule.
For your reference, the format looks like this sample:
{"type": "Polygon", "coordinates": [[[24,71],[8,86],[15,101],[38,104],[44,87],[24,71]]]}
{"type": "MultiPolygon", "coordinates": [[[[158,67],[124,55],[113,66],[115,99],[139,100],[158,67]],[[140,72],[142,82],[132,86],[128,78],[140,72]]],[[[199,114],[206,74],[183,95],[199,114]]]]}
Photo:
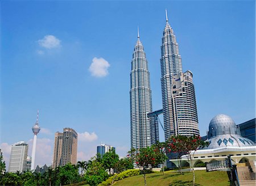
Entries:
{"type": "Polygon", "coordinates": [[[178,153],[183,152],[187,154],[188,161],[190,162],[189,166],[193,172],[193,185],[195,185],[195,171],[192,159],[197,149],[208,146],[209,143],[201,140],[200,136],[173,136],[167,143],[170,151],[177,151],[178,153]]]}

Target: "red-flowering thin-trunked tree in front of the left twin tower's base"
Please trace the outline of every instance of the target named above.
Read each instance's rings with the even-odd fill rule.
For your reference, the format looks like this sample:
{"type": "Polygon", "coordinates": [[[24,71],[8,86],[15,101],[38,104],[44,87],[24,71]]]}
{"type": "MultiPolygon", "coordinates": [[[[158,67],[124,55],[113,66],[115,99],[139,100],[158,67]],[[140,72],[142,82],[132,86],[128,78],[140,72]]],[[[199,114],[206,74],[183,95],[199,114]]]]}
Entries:
{"type": "Polygon", "coordinates": [[[159,163],[163,162],[163,159],[166,160],[166,155],[157,149],[157,146],[151,146],[139,149],[139,153],[135,154],[135,150],[131,149],[132,156],[136,161],[137,166],[143,172],[144,185],[146,186],[146,170],[148,167],[155,167],[159,163]]]}

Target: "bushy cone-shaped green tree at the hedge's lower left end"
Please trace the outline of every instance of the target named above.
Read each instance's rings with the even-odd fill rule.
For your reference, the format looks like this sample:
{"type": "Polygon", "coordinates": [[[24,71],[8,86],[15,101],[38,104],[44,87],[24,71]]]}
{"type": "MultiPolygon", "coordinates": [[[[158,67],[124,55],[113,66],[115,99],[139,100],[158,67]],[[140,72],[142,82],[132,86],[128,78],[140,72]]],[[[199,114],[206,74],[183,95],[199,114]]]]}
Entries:
{"type": "Polygon", "coordinates": [[[89,185],[98,185],[108,178],[108,173],[103,164],[98,162],[97,158],[93,158],[84,177],[89,185]]]}

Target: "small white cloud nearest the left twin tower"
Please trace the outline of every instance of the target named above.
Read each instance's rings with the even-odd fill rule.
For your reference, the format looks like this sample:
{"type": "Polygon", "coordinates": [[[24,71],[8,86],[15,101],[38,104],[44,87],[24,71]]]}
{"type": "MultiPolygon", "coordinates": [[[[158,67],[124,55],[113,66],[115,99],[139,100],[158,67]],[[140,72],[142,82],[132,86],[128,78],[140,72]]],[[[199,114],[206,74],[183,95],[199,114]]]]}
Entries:
{"type": "Polygon", "coordinates": [[[109,74],[108,68],[110,64],[104,58],[94,57],[92,60],[92,64],[90,64],[89,71],[94,77],[105,77],[109,74]]]}

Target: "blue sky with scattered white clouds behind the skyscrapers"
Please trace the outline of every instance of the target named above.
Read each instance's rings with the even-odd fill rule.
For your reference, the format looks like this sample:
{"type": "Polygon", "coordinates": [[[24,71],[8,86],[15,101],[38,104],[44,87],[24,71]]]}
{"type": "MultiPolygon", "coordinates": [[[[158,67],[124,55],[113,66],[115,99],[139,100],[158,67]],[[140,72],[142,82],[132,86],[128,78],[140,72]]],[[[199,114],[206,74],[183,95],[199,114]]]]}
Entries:
{"type": "Polygon", "coordinates": [[[153,109],[162,108],[165,9],[183,71],[193,72],[201,136],[218,113],[237,124],[253,119],[254,1],[2,1],[0,144],[5,160],[13,143],[32,145],[37,109],[43,129],[36,164],[51,163],[54,133],[64,127],[80,133],[79,159],[92,157],[101,142],[124,156],[130,148],[130,69],[137,26],[153,109]]]}

